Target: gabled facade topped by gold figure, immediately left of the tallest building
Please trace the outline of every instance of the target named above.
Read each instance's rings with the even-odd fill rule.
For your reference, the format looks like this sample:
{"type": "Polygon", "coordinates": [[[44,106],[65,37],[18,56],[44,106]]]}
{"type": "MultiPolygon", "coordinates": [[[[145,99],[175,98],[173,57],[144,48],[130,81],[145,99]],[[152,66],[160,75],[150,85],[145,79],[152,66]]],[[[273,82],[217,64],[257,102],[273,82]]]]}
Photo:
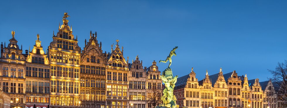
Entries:
{"type": "Polygon", "coordinates": [[[50,64],[39,37],[26,58],[26,107],[42,108],[50,103],[50,64]]]}

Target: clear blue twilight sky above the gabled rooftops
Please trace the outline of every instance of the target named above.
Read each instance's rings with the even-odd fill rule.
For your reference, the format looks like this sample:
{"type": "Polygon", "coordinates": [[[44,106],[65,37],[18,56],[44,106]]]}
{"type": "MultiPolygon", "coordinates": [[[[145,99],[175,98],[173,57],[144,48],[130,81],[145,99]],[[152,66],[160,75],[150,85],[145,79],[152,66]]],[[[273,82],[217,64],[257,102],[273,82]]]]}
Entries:
{"type": "MultiPolygon", "coordinates": [[[[171,68],[199,80],[219,69],[236,70],[249,79],[267,80],[277,62],[287,59],[287,1],[0,1],[0,37],[6,43],[16,31],[23,50],[35,44],[37,33],[47,48],[63,13],[71,17],[74,36],[83,49],[90,30],[97,31],[102,50],[111,52],[119,39],[124,57],[136,55],[148,67],[178,46],[171,68]]],[[[23,52],[25,53],[25,52],[23,52]]],[[[168,64],[158,64],[163,71],[168,64]]]]}

